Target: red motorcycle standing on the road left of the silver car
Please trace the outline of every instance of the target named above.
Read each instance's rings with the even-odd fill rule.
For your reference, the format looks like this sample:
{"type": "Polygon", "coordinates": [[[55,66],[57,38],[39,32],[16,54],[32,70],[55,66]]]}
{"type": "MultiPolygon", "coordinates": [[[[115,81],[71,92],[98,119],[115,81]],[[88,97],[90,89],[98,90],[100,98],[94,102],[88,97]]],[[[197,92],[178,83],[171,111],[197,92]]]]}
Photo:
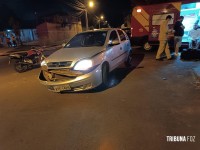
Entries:
{"type": "Polygon", "coordinates": [[[32,48],[25,53],[13,53],[9,55],[9,64],[14,61],[14,69],[19,72],[25,72],[34,67],[40,66],[44,60],[43,49],[32,48]]]}

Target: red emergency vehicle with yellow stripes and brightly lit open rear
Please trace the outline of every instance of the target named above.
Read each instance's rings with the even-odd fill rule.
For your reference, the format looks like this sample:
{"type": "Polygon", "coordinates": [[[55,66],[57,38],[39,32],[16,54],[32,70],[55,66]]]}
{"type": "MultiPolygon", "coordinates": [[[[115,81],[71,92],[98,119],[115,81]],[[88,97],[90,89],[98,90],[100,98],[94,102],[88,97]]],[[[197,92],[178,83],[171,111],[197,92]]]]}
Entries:
{"type": "Polygon", "coordinates": [[[183,0],[181,2],[134,7],[131,17],[131,39],[133,44],[141,45],[145,50],[151,49],[153,45],[158,45],[160,23],[165,20],[167,15],[173,17],[169,23],[170,28],[173,28],[180,15],[185,17],[183,24],[186,28],[183,42],[187,44],[188,31],[192,29],[194,22],[200,19],[200,2],[183,0]]]}

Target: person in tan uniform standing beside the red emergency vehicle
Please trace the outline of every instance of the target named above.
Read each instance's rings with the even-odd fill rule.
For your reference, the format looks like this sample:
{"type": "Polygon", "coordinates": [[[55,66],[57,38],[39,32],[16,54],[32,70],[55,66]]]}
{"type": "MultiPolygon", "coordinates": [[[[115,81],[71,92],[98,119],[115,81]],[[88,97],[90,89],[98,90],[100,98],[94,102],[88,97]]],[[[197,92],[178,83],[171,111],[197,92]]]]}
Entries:
{"type": "Polygon", "coordinates": [[[168,23],[171,19],[172,16],[168,15],[166,17],[166,20],[163,21],[160,25],[160,33],[158,37],[160,44],[156,54],[156,60],[163,60],[163,58],[161,58],[161,54],[163,53],[163,51],[165,51],[168,60],[172,59],[168,45],[168,34],[172,32],[172,30],[168,27],[168,23]]]}

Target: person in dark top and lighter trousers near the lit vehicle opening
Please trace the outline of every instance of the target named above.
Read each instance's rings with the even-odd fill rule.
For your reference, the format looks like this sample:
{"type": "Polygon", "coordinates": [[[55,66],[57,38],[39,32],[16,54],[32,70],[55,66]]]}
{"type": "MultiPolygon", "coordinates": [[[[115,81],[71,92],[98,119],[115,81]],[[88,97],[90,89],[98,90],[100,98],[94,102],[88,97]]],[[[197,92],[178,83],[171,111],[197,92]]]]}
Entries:
{"type": "Polygon", "coordinates": [[[174,47],[175,56],[178,56],[179,48],[181,47],[182,37],[184,35],[184,25],[182,24],[184,17],[180,16],[179,19],[174,24],[174,47]]]}

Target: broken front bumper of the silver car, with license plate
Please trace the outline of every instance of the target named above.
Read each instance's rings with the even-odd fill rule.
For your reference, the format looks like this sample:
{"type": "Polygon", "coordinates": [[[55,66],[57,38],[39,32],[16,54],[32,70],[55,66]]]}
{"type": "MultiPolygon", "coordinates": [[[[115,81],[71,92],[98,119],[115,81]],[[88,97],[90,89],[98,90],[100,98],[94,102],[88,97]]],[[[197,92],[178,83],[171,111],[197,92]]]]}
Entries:
{"type": "MultiPolygon", "coordinates": [[[[65,70],[64,70],[65,71],[65,70]]],[[[93,71],[83,73],[58,73],[63,70],[41,70],[39,74],[40,83],[53,92],[62,91],[83,91],[93,89],[102,83],[102,73],[100,65],[93,71]]]]}

